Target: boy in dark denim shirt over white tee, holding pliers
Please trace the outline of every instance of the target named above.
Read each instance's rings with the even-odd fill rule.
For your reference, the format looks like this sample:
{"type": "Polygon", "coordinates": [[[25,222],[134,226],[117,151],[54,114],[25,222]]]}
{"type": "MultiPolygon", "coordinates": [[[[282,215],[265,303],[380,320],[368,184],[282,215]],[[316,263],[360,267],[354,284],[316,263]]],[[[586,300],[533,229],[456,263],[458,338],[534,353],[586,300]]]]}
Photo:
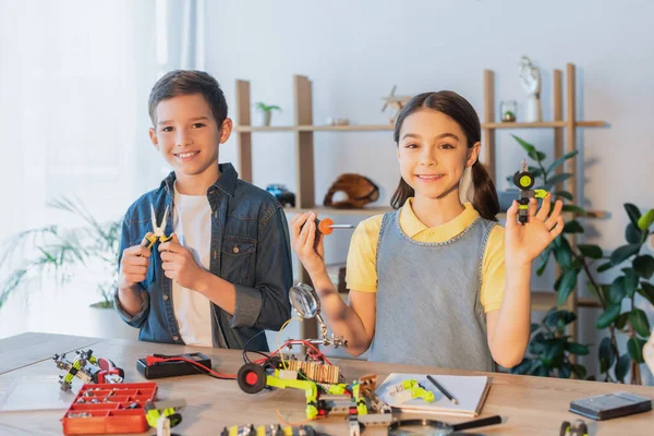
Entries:
{"type": "MultiPolygon", "coordinates": [[[[243,349],[291,315],[284,211],[238,180],[230,164],[218,165],[232,121],[214,77],[172,71],[155,84],[148,106],[150,140],[173,172],[125,214],[116,307],[141,328],[140,340],[243,349]],[[150,205],[157,226],[172,235],[152,252],[141,246],[154,232],[150,205]]],[[[266,336],[249,349],[267,351],[266,336]]]]}

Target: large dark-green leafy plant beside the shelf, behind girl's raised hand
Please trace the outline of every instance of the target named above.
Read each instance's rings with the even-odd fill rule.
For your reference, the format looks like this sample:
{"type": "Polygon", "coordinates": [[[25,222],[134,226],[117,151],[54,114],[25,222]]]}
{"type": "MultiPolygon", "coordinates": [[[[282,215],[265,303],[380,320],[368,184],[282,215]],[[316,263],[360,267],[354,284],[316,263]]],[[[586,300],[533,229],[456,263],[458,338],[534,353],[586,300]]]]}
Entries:
{"type": "MultiPolygon", "coordinates": [[[[556,184],[562,183],[572,177],[571,173],[556,173],[556,169],[566,160],[573,158],[577,150],[564,155],[549,167],[545,168],[547,156],[532,144],[514,136],[516,141],[524,148],[529,157],[535,162],[530,167],[530,172],[541,179],[541,186],[547,191],[556,184]]],[[[510,180],[510,178],[507,178],[510,180]]],[[[569,202],[574,199],[573,194],[567,191],[554,193],[559,198],[569,202]]],[[[583,233],[583,221],[572,219],[566,222],[564,232],[541,254],[536,274],[543,275],[550,258],[560,267],[560,274],[554,284],[558,292],[558,305],[561,306],[577,287],[578,276],[583,277],[589,289],[597,300],[602,313],[595,327],[605,330],[607,336],[602,339],[597,349],[600,362],[600,378],[605,382],[642,384],[641,367],[644,363],[643,347],[650,336],[651,328],[645,311],[641,307],[654,306],[654,283],[650,281],[654,276],[654,256],[644,253],[642,247],[647,238],[654,233],[654,209],[644,214],[630,203],[625,204],[629,216],[629,225],[625,230],[627,244],[617,247],[610,254],[597,245],[572,245],[568,237],[583,233]],[[598,281],[598,274],[611,268],[620,267],[619,274],[611,283],[598,281]],[[635,304],[640,294],[642,305],[635,304]],[[620,347],[618,338],[626,347],[620,347]]],[[[577,205],[567,204],[564,211],[576,213],[584,217],[586,211],[577,205]]],[[[552,308],[541,323],[532,325],[532,336],[528,355],[522,363],[511,370],[514,374],[530,374],[541,376],[586,377],[586,368],[574,364],[570,356],[589,354],[589,347],[571,342],[566,335],[565,327],[576,320],[576,315],[568,311],[552,308]]]]}

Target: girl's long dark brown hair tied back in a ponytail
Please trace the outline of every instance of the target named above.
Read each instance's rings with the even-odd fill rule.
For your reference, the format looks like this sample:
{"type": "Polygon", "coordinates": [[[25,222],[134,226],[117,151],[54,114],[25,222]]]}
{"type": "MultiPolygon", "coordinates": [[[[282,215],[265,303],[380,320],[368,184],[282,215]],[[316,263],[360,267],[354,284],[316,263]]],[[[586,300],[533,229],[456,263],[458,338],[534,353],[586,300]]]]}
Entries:
{"type": "MultiPolygon", "coordinates": [[[[455,120],[465,134],[468,148],[472,148],[475,143],[482,141],[480,118],[472,105],[457,93],[451,90],[439,90],[437,93],[419,94],[411,98],[402,110],[400,110],[393,130],[393,138],[398,146],[402,122],[404,122],[404,119],[411,113],[423,108],[437,110],[455,120]]],[[[479,159],[472,166],[472,182],[474,185],[474,198],[472,205],[475,210],[479,211],[483,218],[497,221],[496,215],[499,213],[497,191],[495,191],[495,184],[488,175],[488,171],[486,171],[486,168],[479,159]]],[[[400,184],[395,194],[392,194],[390,205],[393,209],[399,209],[407,198],[414,195],[415,192],[413,191],[413,187],[411,187],[404,179],[400,178],[400,184]]]]}

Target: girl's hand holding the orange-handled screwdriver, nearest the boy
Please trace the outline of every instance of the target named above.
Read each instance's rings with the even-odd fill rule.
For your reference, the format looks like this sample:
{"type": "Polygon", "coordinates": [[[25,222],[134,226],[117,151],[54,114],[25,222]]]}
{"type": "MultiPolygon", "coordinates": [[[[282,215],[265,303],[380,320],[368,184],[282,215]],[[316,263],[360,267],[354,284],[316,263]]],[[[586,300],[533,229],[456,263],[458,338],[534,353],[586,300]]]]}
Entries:
{"type": "Polygon", "coordinates": [[[310,276],[319,274],[325,269],[325,246],[323,234],[318,234],[316,241],[316,214],[306,213],[295,216],[291,220],[291,237],[293,251],[310,276]]]}

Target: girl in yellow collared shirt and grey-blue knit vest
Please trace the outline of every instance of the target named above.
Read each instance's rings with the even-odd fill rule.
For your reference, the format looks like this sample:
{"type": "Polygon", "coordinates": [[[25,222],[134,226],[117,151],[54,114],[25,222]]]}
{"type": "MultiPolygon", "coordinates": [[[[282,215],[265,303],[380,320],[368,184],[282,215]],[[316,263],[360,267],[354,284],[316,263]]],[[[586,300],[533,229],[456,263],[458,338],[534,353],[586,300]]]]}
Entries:
{"type": "Polygon", "coordinates": [[[532,261],[564,228],[552,195],[529,222],[496,223],[497,194],[477,160],[481,125],[452,92],[413,97],[395,132],[401,180],[395,211],[362,221],[350,244],[346,304],[325,268],[315,214],[291,221],[293,250],[347,350],[371,361],[493,371],[522,361],[530,336],[532,261]],[[372,346],[371,346],[372,343],[372,346]]]}

